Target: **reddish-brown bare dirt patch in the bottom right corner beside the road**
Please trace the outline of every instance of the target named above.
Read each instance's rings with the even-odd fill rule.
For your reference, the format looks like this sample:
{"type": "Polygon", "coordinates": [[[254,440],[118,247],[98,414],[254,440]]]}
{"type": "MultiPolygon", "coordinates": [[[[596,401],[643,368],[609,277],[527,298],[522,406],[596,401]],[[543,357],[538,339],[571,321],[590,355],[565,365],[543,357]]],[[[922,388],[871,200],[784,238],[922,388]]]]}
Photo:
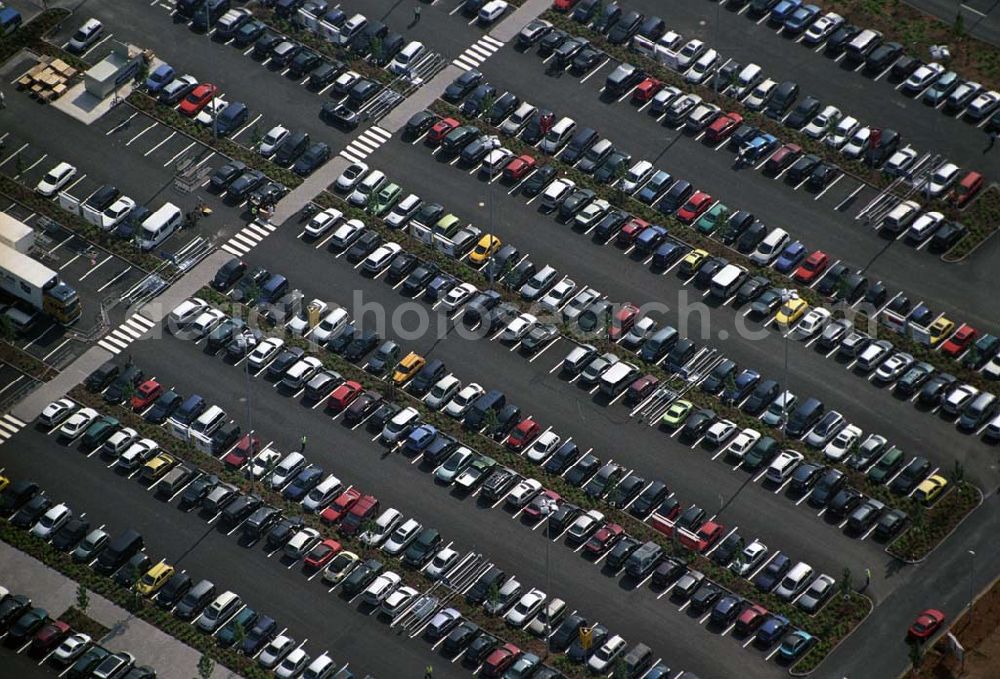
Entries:
{"type": "Polygon", "coordinates": [[[951,627],[965,648],[965,670],[948,649],[946,639],[938,641],[924,656],[917,679],[995,679],[1000,667],[1000,580],[975,603],[970,616],[963,613],[951,627]]]}

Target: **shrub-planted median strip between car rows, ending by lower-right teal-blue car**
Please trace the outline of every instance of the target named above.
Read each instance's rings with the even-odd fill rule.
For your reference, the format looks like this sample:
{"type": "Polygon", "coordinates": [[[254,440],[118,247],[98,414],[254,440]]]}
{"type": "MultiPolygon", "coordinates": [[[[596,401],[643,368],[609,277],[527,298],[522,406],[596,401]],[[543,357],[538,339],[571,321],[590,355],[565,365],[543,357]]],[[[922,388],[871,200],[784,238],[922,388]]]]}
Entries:
{"type": "MultiPolygon", "coordinates": [[[[246,308],[211,288],[202,288],[198,296],[231,315],[246,317],[246,308]]],[[[286,337],[285,341],[286,345],[305,349],[309,355],[319,358],[326,368],[335,370],[345,379],[358,382],[366,390],[383,393],[386,388],[385,382],[363,371],[341,356],[331,352],[319,354],[311,352],[310,349],[313,347],[310,343],[300,338],[286,337]]],[[[485,435],[470,433],[459,422],[428,408],[423,401],[413,397],[405,390],[397,389],[395,394],[397,400],[401,394],[405,395],[402,398],[406,400],[407,405],[419,411],[422,422],[434,425],[439,431],[463,442],[472,450],[492,457],[500,465],[510,467],[524,478],[544,479],[545,487],[559,493],[565,501],[572,502],[584,511],[598,509],[604,513],[608,522],[625,526],[626,532],[632,537],[641,541],[656,542],[663,547],[667,554],[684,559],[692,568],[701,571],[716,584],[748,600],[759,602],[769,611],[787,617],[792,625],[810,631],[817,637],[817,643],[800,662],[815,658],[815,662],[818,664],[833,645],[845,636],[854,624],[867,615],[871,606],[870,600],[866,596],[851,591],[846,594],[846,598],[845,596],[835,597],[815,616],[809,616],[773,594],[758,591],[750,581],[733,574],[728,568],[720,567],[701,554],[688,552],[681,545],[631,514],[611,507],[603,501],[594,500],[581,489],[571,486],[563,478],[546,473],[542,468],[531,464],[526,458],[513,453],[493,439],[485,435]],[[819,653],[817,653],[817,649],[819,653]]],[[[73,395],[75,397],[75,394],[73,395]]],[[[141,431],[140,434],[142,434],[141,431]]],[[[243,485],[246,485],[246,481],[243,481],[243,485]]],[[[479,622],[476,618],[474,620],[479,622]]],[[[809,662],[814,661],[809,660],[809,662]]]]}

